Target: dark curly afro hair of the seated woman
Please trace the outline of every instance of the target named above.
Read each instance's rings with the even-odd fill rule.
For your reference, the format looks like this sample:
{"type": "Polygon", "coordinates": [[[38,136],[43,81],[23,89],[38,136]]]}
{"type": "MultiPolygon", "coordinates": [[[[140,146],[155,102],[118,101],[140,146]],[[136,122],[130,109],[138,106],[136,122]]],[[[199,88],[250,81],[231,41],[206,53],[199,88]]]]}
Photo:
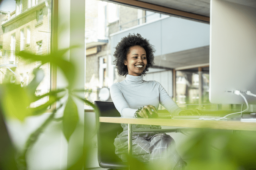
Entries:
{"type": "Polygon", "coordinates": [[[151,45],[147,39],[141,37],[140,34],[129,34],[127,37],[123,37],[116,45],[116,51],[114,53],[114,64],[116,65],[117,72],[120,76],[126,76],[128,74],[128,68],[124,65],[124,60],[126,60],[130,47],[135,45],[143,47],[146,51],[148,64],[142,74],[146,74],[148,68],[154,65],[154,46],[151,45]]]}

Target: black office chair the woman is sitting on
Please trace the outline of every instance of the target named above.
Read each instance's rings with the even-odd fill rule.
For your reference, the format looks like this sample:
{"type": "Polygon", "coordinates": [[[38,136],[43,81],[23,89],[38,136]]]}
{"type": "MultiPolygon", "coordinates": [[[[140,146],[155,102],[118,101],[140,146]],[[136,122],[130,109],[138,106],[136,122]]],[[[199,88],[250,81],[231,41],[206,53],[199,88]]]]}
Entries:
{"type": "Polygon", "coordinates": [[[102,168],[129,169],[128,165],[115,154],[114,140],[117,134],[123,131],[120,124],[99,122],[99,117],[120,117],[113,102],[95,101],[94,104],[99,110],[96,113],[97,141],[98,141],[98,162],[102,168]]]}

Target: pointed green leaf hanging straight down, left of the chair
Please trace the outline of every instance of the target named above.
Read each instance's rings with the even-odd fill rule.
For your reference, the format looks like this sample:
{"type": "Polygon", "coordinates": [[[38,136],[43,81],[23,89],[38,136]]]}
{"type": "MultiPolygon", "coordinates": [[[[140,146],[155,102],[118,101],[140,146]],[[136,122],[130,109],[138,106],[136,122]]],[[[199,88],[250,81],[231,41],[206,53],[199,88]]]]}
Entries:
{"type": "Polygon", "coordinates": [[[63,114],[63,133],[67,141],[69,141],[71,134],[75,131],[78,119],[77,105],[69,96],[63,114]]]}

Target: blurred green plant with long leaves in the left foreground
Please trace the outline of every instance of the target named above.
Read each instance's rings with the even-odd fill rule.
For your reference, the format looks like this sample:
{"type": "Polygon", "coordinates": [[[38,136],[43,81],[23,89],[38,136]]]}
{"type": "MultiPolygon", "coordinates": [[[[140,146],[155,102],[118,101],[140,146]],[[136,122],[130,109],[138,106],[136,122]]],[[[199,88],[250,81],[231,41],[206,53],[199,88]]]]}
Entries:
{"type": "MultiPolygon", "coordinates": [[[[72,48],[77,48],[77,47],[74,46],[72,48]]],[[[66,140],[69,141],[70,136],[75,131],[75,128],[77,127],[77,124],[79,122],[79,115],[78,115],[77,105],[75,104],[73,99],[74,97],[82,100],[85,104],[93,107],[97,114],[97,108],[94,106],[94,104],[92,104],[90,101],[86,100],[85,98],[79,97],[77,95],[77,92],[80,92],[80,91],[84,92],[84,89],[82,90],[73,89],[75,67],[72,62],[64,60],[64,54],[68,50],[69,49],[63,49],[60,51],[56,51],[55,53],[51,53],[49,55],[35,55],[35,54],[27,53],[25,51],[21,51],[16,54],[17,56],[20,56],[24,59],[28,59],[31,62],[41,61],[41,65],[50,62],[51,65],[54,65],[60,68],[60,70],[63,71],[66,79],[68,80],[68,86],[66,88],[51,90],[49,93],[46,93],[41,96],[36,96],[35,95],[36,88],[44,78],[44,71],[41,68],[39,68],[40,66],[33,70],[33,74],[35,75],[35,77],[26,87],[21,87],[20,85],[17,85],[14,83],[4,83],[0,85],[0,89],[1,89],[0,108],[2,108],[1,113],[4,114],[1,116],[6,118],[19,119],[20,121],[24,121],[24,119],[28,116],[36,116],[36,115],[45,113],[45,111],[49,106],[56,104],[56,102],[58,101],[60,102],[61,99],[68,96],[66,103],[60,102],[61,103],[60,107],[54,108],[50,116],[46,119],[46,121],[30,135],[30,137],[28,138],[25,144],[24,150],[21,153],[17,154],[16,161],[17,161],[18,169],[22,169],[22,170],[27,169],[27,163],[26,163],[27,151],[33,146],[33,144],[35,144],[39,135],[47,127],[47,125],[49,125],[49,123],[52,121],[56,121],[55,113],[63,105],[65,106],[63,117],[58,118],[58,120],[62,121],[63,134],[66,140]],[[48,97],[48,101],[45,104],[42,104],[35,108],[30,107],[31,103],[36,102],[39,99],[42,99],[44,97],[48,97]]],[[[5,127],[4,121],[1,122],[1,126],[5,127]]],[[[10,139],[8,136],[6,136],[6,138],[10,139]]],[[[12,145],[10,145],[10,147],[13,148],[12,145]]],[[[5,150],[5,151],[8,152],[8,150],[5,150]]],[[[83,167],[82,160],[85,158],[85,156],[86,156],[86,153],[84,151],[82,157],[79,158],[79,160],[77,160],[77,162],[75,162],[74,165],[71,165],[72,169],[73,168],[82,169],[83,167]]],[[[5,164],[6,162],[1,162],[0,169],[6,169],[5,164]]]]}

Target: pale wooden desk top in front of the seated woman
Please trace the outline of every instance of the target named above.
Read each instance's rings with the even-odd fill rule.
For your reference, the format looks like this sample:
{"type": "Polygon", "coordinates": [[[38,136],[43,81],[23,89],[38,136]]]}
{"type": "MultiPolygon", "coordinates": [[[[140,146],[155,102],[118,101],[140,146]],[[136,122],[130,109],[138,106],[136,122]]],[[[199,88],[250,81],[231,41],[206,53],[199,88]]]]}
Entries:
{"type": "Polygon", "coordinates": [[[211,128],[223,130],[250,130],[256,131],[256,122],[241,122],[232,120],[223,121],[204,121],[187,119],[143,119],[132,117],[99,117],[100,122],[107,123],[125,123],[125,124],[143,124],[143,125],[162,125],[173,127],[190,128],[211,128]]]}

